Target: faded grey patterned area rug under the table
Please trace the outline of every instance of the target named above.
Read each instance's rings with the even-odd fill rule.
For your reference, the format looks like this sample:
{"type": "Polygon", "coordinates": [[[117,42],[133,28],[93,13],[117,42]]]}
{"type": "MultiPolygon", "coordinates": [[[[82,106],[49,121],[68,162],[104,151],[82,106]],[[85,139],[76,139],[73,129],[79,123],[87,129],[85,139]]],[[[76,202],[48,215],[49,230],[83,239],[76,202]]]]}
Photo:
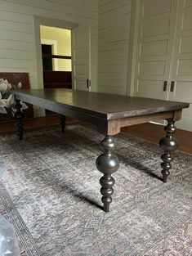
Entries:
{"type": "Polygon", "coordinates": [[[22,255],[192,255],[192,155],[175,153],[172,176],[159,180],[159,146],[119,134],[111,211],[100,209],[102,139],[70,125],[0,135],[8,168],[0,210],[16,228],[22,255]]]}

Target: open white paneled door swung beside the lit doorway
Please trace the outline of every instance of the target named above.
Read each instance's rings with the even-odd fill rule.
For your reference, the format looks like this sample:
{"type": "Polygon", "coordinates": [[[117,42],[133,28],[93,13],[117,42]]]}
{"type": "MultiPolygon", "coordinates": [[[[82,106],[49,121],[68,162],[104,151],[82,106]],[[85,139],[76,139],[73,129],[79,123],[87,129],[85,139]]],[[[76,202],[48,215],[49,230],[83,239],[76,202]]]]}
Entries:
{"type": "Polygon", "coordinates": [[[72,30],[72,83],[77,90],[88,91],[91,80],[91,35],[87,25],[72,30]]]}

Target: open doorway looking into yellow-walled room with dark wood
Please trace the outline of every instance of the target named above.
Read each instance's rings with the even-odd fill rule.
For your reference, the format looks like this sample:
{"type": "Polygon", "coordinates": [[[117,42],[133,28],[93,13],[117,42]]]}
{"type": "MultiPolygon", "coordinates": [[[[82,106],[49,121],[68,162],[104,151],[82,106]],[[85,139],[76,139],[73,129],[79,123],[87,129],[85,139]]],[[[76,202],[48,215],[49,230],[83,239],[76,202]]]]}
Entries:
{"type": "Polygon", "coordinates": [[[40,25],[44,88],[72,88],[71,30],[40,25]]]}

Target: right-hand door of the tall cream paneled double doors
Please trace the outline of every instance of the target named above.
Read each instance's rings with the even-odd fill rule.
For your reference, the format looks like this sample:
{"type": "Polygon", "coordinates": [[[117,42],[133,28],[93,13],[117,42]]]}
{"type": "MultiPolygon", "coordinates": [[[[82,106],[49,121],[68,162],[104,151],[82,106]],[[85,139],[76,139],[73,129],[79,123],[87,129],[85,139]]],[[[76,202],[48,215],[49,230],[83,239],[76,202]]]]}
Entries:
{"type": "MultiPolygon", "coordinates": [[[[174,81],[170,101],[192,103],[192,0],[179,0],[176,38],[170,78],[174,81]]],[[[183,110],[179,128],[192,131],[192,104],[183,110]]]]}

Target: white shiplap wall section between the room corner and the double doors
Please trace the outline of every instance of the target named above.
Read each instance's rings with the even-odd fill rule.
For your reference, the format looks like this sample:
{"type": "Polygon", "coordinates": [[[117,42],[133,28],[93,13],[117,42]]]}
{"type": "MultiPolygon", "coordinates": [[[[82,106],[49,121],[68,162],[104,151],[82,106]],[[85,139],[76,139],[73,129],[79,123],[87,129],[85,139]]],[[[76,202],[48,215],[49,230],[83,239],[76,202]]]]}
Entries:
{"type": "Polygon", "coordinates": [[[132,0],[99,0],[98,92],[126,95],[132,0]]]}

